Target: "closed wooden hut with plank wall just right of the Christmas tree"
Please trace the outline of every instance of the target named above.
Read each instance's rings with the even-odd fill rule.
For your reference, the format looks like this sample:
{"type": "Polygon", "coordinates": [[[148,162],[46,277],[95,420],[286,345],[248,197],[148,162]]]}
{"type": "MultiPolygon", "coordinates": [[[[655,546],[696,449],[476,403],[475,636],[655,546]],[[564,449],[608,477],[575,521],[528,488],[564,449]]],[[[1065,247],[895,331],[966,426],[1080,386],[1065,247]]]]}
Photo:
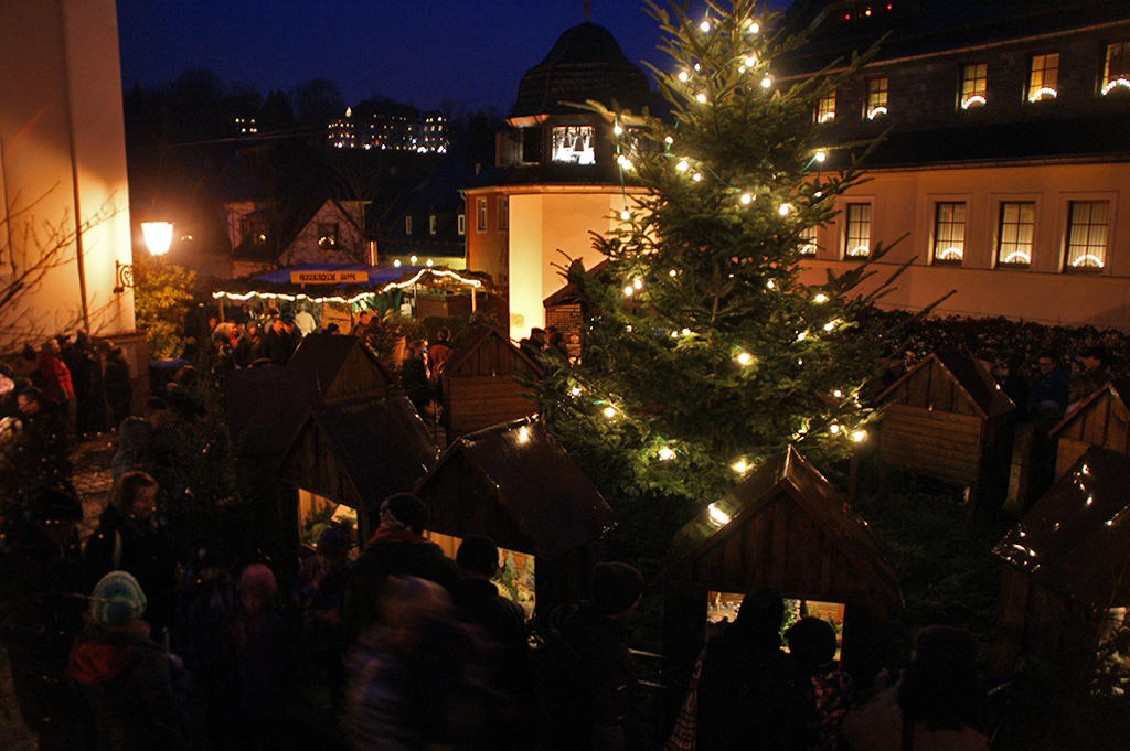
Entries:
{"type": "Polygon", "coordinates": [[[880,393],[876,407],[883,410],[883,470],[966,486],[971,514],[977,490],[1008,477],[1008,413],[1016,405],[964,347],[927,357],[880,393]]]}

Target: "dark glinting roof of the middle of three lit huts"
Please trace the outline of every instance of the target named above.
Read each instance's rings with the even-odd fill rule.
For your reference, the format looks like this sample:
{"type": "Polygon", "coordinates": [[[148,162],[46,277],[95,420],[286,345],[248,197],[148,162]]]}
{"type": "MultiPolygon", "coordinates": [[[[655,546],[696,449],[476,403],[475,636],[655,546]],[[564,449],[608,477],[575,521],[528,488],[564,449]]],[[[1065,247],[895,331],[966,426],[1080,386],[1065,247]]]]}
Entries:
{"type": "Polygon", "coordinates": [[[416,491],[432,507],[436,532],[457,536],[487,534],[504,548],[532,552],[546,561],[597,540],[617,524],[600,491],[545,425],[533,418],[458,438],[416,491]],[[521,539],[510,539],[514,533],[502,525],[497,530],[466,529],[470,514],[458,508],[461,498],[454,498],[453,504],[436,504],[436,488],[452,471],[485,488],[521,539]]]}

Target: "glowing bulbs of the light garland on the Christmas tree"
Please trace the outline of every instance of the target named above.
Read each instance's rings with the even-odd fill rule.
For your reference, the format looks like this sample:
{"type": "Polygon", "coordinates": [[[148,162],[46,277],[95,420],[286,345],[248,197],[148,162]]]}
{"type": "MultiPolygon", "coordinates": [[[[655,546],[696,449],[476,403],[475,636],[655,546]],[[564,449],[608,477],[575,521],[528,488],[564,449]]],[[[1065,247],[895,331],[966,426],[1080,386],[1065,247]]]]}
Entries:
{"type": "MultiPolygon", "coordinates": [[[[755,34],[756,35],[756,34],[758,34],[760,32],[760,25],[756,20],[754,20],[754,19],[746,19],[740,25],[745,26],[746,29],[750,34],[755,34]]],[[[710,34],[710,32],[712,29],[712,24],[711,24],[710,15],[709,14],[706,15],[706,18],[702,21],[702,24],[698,25],[698,28],[699,28],[699,30],[702,30],[703,34],[710,34]]],[[[734,58],[733,62],[739,62],[740,63],[739,67],[738,67],[738,72],[739,73],[744,75],[744,73],[750,72],[750,71],[751,72],[756,72],[757,56],[753,52],[750,52],[748,54],[739,55],[738,58],[734,58]]],[[[701,67],[698,66],[698,63],[695,63],[694,70],[696,72],[701,71],[701,67]]],[[[686,96],[688,98],[694,99],[694,102],[697,102],[698,104],[706,104],[710,101],[710,97],[704,91],[698,91],[697,94],[694,94],[692,96],[692,94],[690,94],[692,73],[688,72],[687,70],[679,71],[679,73],[675,78],[680,84],[684,85],[684,91],[685,91],[685,94],[686,94],[686,96]]],[[[760,79],[759,84],[760,84],[762,88],[764,88],[766,90],[772,89],[773,88],[773,78],[772,78],[772,76],[770,76],[768,73],[765,73],[764,77],[760,79]]],[[[677,90],[677,88],[678,88],[678,87],[676,87],[673,85],[673,81],[671,82],[671,88],[673,90],[677,90]]],[[[678,129],[678,123],[676,123],[675,129],[678,129]]],[[[620,212],[619,218],[623,221],[625,221],[625,222],[629,222],[629,221],[632,221],[633,215],[632,215],[631,210],[628,209],[628,203],[627,203],[627,186],[626,186],[626,183],[625,183],[625,173],[631,172],[634,168],[634,165],[632,163],[632,159],[628,156],[631,154],[631,151],[632,151],[632,147],[628,146],[628,145],[625,145],[623,142],[623,139],[621,139],[621,137],[624,136],[624,132],[625,132],[625,129],[619,123],[619,121],[618,120],[614,121],[612,133],[616,136],[616,139],[617,139],[616,140],[616,155],[617,155],[616,156],[616,163],[617,163],[617,166],[618,166],[618,174],[619,174],[619,178],[620,178],[620,194],[621,194],[621,198],[624,200],[624,210],[620,212]]],[[[722,185],[725,189],[728,189],[729,191],[731,191],[736,195],[736,201],[740,206],[747,207],[747,206],[753,204],[756,201],[756,199],[757,199],[756,189],[736,187],[736,186],[727,183],[722,178],[720,178],[718,176],[718,174],[714,173],[714,171],[711,169],[707,165],[702,164],[702,163],[697,163],[696,160],[692,159],[690,157],[678,157],[675,154],[672,154],[671,152],[671,148],[675,146],[675,138],[673,138],[673,136],[668,134],[663,139],[663,143],[664,143],[664,149],[663,149],[664,150],[664,156],[667,156],[671,161],[675,161],[676,159],[678,159],[678,161],[675,161],[675,169],[676,169],[676,172],[678,172],[678,173],[688,173],[689,176],[690,176],[690,180],[693,180],[696,183],[697,182],[702,182],[702,180],[703,180],[703,173],[705,172],[706,174],[709,174],[715,181],[716,184],[722,185]],[[692,171],[692,166],[695,167],[694,171],[692,171]]],[[[808,169],[809,167],[812,166],[812,164],[824,163],[826,158],[827,158],[827,151],[825,149],[817,149],[812,154],[811,159],[809,159],[808,164],[806,164],[805,167],[802,167],[802,169],[808,169]]],[[[815,194],[814,194],[814,198],[820,199],[822,194],[823,194],[823,191],[816,191],[815,194]]],[[[782,201],[777,206],[776,210],[777,210],[777,213],[780,216],[786,217],[786,216],[789,216],[794,210],[794,207],[791,203],[789,203],[788,201],[782,201]]],[[[678,276],[678,272],[676,270],[673,270],[673,269],[669,273],[670,273],[671,277],[677,277],[678,276]]],[[[772,289],[776,289],[776,285],[774,283],[774,281],[772,279],[770,279],[766,282],[766,287],[768,289],[771,289],[771,290],[772,289]]],[[[643,289],[644,289],[644,280],[637,277],[636,279],[632,280],[631,283],[628,283],[628,285],[626,285],[624,287],[624,296],[625,297],[632,297],[633,295],[637,295],[638,292],[643,291],[643,289]]],[[[815,303],[817,305],[826,303],[826,302],[828,302],[828,296],[825,295],[824,292],[817,292],[817,294],[815,294],[812,296],[812,303],[815,303]]],[[[833,331],[835,331],[837,323],[838,323],[838,321],[829,321],[829,322],[827,322],[827,323],[824,324],[823,330],[825,332],[827,332],[827,333],[832,333],[833,331]]],[[[681,331],[671,331],[671,337],[672,338],[677,338],[680,334],[683,337],[690,337],[690,335],[693,335],[693,332],[689,329],[683,329],[681,331]]],[[[806,338],[808,338],[808,335],[809,334],[808,334],[807,331],[801,331],[801,332],[799,332],[797,334],[797,341],[803,341],[806,338]]],[[[736,349],[737,349],[737,352],[734,353],[734,361],[738,363],[738,365],[740,365],[742,367],[748,367],[750,365],[754,365],[757,361],[757,358],[754,355],[751,355],[751,353],[749,353],[749,352],[747,352],[745,350],[738,349],[738,348],[736,348],[736,349]]],[[[803,364],[803,360],[798,360],[798,364],[803,364]]],[[[573,385],[572,388],[570,390],[570,395],[572,398],[574,398],[574,399],[579,398],[582,393],[584,393],[584,390],[580,385],[573,385]]],[[[836,400],[840,400],[841,404],[844,404],[844,403],[846,403],[846,402],[850,401],[850,402],[853,403],[854,408],[860,407],[860,401],[859,401],[858,393],[851,393],[851,394],[849,394],[845,398],[844,393],[842,391],[836,390],[836,391],[834,391],[832,393],[832,396],[834,399],[836,399],[836,400]]],[[[616,419],[617,416],[623,416],[625,418],[631,418],[631,416],[623,408],[617,408],[614,404],[614,401],[612,401],[611,398],[606,398],[606,399],[596,398],[596,399],[592,399],[592,401],[590,403],[592,403],[594,405],[598,405],[598,407],[599,405],[603,405],[603,409],[601,409],[600,412],[603,414],[605,418],[607,418],[609,420],[616,419]]],[[[829,422],[827,425],[827,430],[833,436],[842,436],[842,437],[844,437],[844,438],[846,438],[846,439],[849,439],[849,440],[851,440],[853,443],[857,443],[857,444],[862,443],[862,442],[867,440],[867,438],[868,438],[868,433],[867,433],[867,430],[862,429],[861,425],[857,425],[854,428],[847,428],[847,427],[844,427],[844,426],[840,425],[838,422],[832,421],[832,422],[829,422]]],[[[809,434],[809,428],[806,427],[803,430],[800,430],[800,431],[793,434],[793,439],[794,440],[802,439],[808,434],[809,434]]],[[[655,452],[655,457],[660,462],[673,461],[677,457],[677,455],[678,455],[678,447],[672,442],[667,440],[666,438],[663,438],[658,433],[655,433],[655,435],[658,437],[658,443],[659,443],[659,448],[655,452]]],[[[782,448],[782,447],[783,446],[777,446],[777,447],[774,447],[774,448],[782,448]]],[[[739,475],[742,475],[746,472],[748,472],[750,469],[753,469],[755,461],[756,460],[755,460],[754,456],[751,456],[749,454],[746,454],[746,455],[736,457],[730,463],[730,468],[734,472],[737,472],[739,475]]],[[[727,521],[729,521],[729,519],[727,519],[727,521]]],[[[721,523],[724,523],[724,522],[721,522],[721,523]]]]}

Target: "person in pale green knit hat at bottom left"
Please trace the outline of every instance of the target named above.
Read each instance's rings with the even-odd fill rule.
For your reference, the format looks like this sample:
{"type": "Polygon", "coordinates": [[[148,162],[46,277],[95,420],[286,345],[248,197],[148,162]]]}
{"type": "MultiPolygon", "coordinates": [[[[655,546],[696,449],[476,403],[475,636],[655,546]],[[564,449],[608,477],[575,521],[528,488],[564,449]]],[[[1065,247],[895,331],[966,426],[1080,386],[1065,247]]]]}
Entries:
{"type": "Polygon", "coordinates": [[[186,676],[149,638],[137,579],[111,571],[90,596],[89,626],[71,648],[68,673],[94,713],[98,751],[185,748],[186,676]]]}

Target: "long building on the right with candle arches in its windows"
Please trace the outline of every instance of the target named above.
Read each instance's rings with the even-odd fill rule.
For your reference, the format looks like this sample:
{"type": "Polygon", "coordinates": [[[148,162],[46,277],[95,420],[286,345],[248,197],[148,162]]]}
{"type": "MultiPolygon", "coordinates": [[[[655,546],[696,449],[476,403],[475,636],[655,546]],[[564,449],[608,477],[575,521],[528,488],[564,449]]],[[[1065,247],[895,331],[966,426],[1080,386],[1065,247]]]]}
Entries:
{"type": "Polygon", "coordinates": [[[880,262],[912,261],[885,306],[956,290],[938,314],[1130,322],[1130,6],[798,0],[783,24],[807,43],[779,61],[782,88],[886,35],[812,113],[823,169],[886,138],[808,238],[806,281],[905,236],[880,262]]]}

